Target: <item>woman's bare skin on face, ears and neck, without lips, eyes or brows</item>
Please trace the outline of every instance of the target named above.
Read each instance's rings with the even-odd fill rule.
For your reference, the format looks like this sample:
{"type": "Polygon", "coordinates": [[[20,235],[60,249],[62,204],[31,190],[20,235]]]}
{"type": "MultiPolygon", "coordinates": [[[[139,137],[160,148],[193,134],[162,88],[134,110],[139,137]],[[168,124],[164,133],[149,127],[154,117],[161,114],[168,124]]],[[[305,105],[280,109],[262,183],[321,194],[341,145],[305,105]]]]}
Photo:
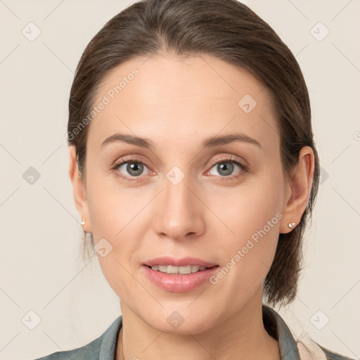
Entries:
{"type": "Polygon", "coordinates": [[[158,53],[129,60],[104,79],[94,104],[133,68],[139,75],[90,124],[85,182],[70,146],[70,179],[84,229],[95,244],[105,238],[113,246],[98,261],[120,297],[124,348],[119,340],[117,359],[122,351],[125,359],[141,360],[281,359],[262,323],[262,286],[279,233],[292,231],[288,223],[298,224],[307,205],[314,153],[302,148],[288,179],[269,92],[247,70],[211,56],[158,53]],[[245,94],[257,101],[248,114],[238,106],[245,94]],[[101,148],[117,132],[150,139],[155,148],[120,141],[101,148]],[[202,145],[238,132],[261,147],[202,145]],[[127,172],[127,164],[112,169],[125,156],[145,163],[139,176],[127,172]],[[222,175],[217,163],[231,166],[223,160],[229,156],[248,164],[248,171],[231,162],[233,171],[222,175]],[[166,177],[174,166],[185,175],[177,185],[166,177]],[[226,266],[278,212],[282,219],[216,285],[206,281],[174,293],[158,288],[141,269],[146,259],[162,255],[226,266]],[[184,318],[176,329],[167,322],[173,311],[184,318]]]}

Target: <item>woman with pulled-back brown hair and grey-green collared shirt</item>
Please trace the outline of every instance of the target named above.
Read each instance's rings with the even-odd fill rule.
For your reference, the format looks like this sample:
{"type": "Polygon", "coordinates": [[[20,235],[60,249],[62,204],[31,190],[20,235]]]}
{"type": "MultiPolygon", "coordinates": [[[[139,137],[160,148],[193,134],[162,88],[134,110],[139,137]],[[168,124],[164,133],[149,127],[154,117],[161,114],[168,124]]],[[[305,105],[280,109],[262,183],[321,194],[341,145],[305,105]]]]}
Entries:
{"type": "Polygon", "coordinates": [[[319,185],[307,86],[269,25],[233,0],[136,3],[86,47],[69,110],[75,205],[122,316],[41,359],[347,359],[267,306],[295,299],[319,185]]]}

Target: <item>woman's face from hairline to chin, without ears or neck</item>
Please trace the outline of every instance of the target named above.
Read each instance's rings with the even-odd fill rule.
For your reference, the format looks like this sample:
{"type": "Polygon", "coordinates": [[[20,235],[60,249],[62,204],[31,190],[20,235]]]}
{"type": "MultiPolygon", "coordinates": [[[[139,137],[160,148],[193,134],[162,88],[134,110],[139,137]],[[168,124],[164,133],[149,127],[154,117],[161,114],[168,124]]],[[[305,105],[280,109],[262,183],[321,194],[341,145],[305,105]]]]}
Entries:
{"type": "Polygon", "coordinates": [[[94,106],[86,230],[123,313],[197,333],[257,307],[290,231],[269,92],[223,60],[157,54],[110,72],[94,106]]]}

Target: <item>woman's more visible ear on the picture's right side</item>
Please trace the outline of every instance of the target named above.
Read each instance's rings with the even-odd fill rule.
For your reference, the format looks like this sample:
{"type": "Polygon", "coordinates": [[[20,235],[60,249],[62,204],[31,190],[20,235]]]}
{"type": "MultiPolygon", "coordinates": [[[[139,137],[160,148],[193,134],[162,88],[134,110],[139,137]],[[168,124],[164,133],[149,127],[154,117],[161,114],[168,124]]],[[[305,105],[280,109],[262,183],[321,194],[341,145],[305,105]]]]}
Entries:
{"type": "Polygon", "coordinates": [[[311,186],[314,178],[314,152],[309,146],[300,150],[299,161],[294,167],[286,185],[287,190],[283,204],[283,219],[281,219],[280,233],[292,231],[288,227],[290,222],[299,224],[302,214],[307,207],[311,186]]]}

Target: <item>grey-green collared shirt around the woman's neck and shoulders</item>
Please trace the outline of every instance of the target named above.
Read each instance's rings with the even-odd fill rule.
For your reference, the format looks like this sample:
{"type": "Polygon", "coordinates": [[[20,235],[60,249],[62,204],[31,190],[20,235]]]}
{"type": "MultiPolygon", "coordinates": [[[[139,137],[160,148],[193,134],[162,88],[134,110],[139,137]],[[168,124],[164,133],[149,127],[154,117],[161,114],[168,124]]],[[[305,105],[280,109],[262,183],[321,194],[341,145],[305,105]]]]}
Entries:
{"type": "MultiPolygon", "coordinates": [[[[281,316],[274,309],[264,304],[262,305],[262,314],[266,331],[278,340],[281,360],[302,360],[297,348],[297,342],[281,316]]],[[[122,316],[119,316],[99,338],[89,342],[89,344],[77,349],[54,352],[35,360],[115,360],[117,338],[121,327],[122,316]]],[[[352,360],[330,352],[330,350],[320,347],[320,345],[319,348],[324,354],[324,359],[352,360]]],[[[308,357],[307,359],[316,359],[316,357],[308,357]]]]}

